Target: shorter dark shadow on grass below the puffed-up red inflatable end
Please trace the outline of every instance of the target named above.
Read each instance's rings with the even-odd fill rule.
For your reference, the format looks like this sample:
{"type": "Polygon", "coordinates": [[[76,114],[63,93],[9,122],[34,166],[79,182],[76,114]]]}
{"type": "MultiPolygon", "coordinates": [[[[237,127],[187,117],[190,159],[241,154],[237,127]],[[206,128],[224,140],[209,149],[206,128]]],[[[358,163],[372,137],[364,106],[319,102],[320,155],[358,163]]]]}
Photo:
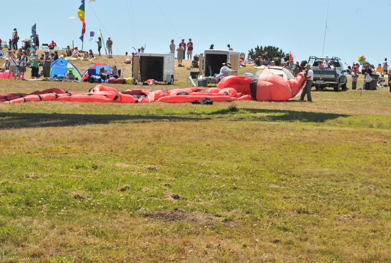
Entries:
{"type": "MultiPolygon", "coordinates": [[[[303,103],[303,102],[301,102],[303,103]]],[[[348,117],[346,114],[335,114],[335,113],[319,113],[319,112],[308,112],[308,111],[285,111],[276,109],[247,109],[239,108],[239,113],[251,113],[252,116],[249,119],[248,116],[230,119],[230,120],[257,120],[257,121],[269,121],[269,122],[325,122],[327,120],[334,120],[339,117],[348,117]],[[255,114],[261,115],[255,115],[255,114]]],[[[208,113],[208,115],[235,115],[237,113],[232,112],[230,109],[221,109],[208,113]]]]}

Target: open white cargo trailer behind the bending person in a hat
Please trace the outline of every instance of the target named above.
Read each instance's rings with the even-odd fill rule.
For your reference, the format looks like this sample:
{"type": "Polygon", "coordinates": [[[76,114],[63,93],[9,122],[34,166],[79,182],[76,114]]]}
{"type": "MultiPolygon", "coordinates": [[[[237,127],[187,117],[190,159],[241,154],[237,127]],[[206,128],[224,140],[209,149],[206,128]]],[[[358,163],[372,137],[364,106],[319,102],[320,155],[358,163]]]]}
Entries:
{"type": "Polygon", "coordinates": [[[199,56],[199,61],[202,66],[199,68],[200,75],[204,77],[214,77],[220,73],[222,63],[230,62],[232,69],[238,72],[232,72],[230,75],[239,76],[239,51],[232,50],[219,50],[219,49],[208,49],[199,56]]]}

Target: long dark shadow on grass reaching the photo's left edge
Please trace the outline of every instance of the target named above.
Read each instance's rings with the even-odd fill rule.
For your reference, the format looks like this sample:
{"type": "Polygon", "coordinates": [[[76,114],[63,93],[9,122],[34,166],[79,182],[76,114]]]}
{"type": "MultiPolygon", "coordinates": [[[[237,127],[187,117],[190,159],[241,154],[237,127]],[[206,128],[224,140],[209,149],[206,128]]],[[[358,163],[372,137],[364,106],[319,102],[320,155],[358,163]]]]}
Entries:
{"type": "Polygon", "coordinates": [[[116,114],[68,114],[68,113],[0,113],[0,129],[65,127],[110,122],[195,122],[210,118],[167,115],[116,115],[116,114]]]}

